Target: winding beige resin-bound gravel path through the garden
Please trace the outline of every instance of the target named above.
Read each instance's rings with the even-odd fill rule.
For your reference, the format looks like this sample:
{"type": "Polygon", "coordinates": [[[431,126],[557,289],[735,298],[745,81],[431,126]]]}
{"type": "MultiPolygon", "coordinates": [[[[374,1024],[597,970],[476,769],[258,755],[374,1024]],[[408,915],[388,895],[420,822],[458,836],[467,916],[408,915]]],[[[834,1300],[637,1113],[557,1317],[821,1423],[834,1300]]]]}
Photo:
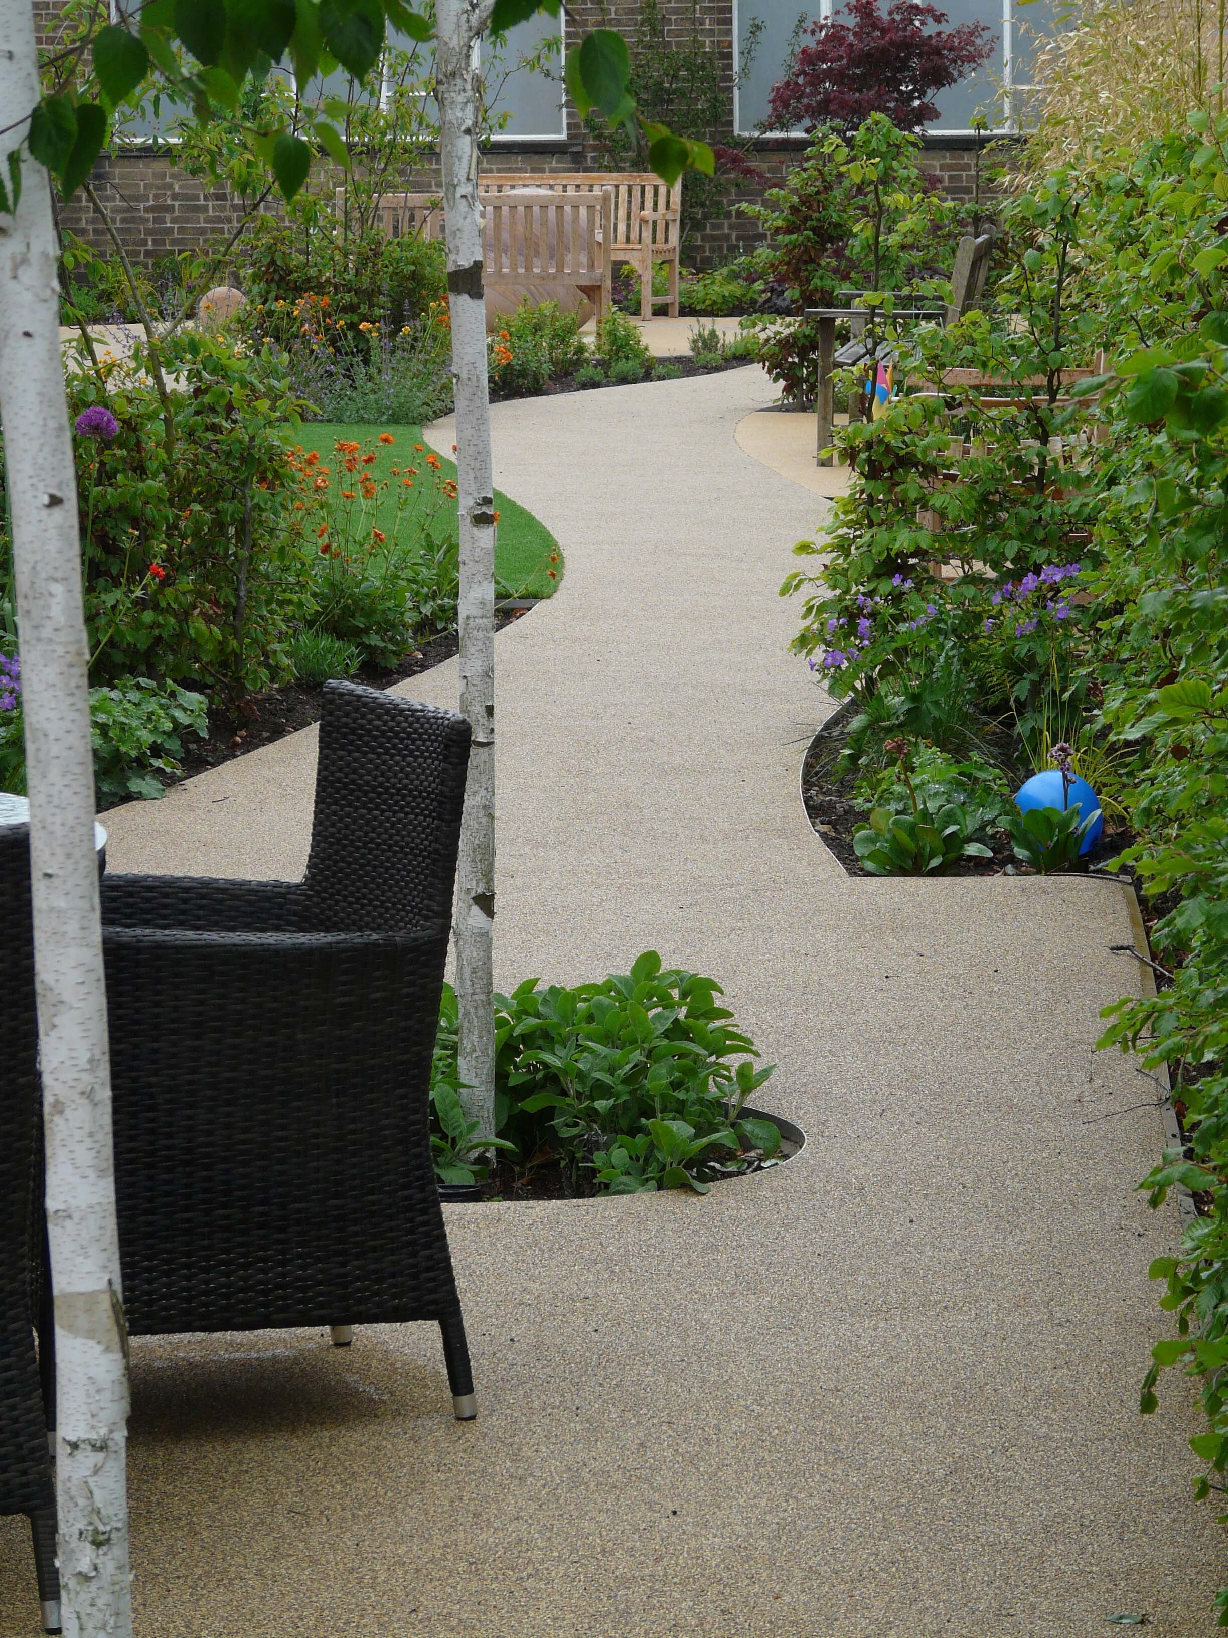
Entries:
{"type": "MultiPolygon", "coordinates": [[[[716,975],[802,1156],[706,1199],[450,1209],[472,1425],[427,1325],[138,1340],[141,1631],[1213,1630],[1197,1420],[1181,1384],[1136,1412],[1161,1117],[1092,1053],[1140,983],[1128,899],[850,880],[810,834],[825,706],[776,586],[824,503],[738,449],[770,398],[747,369],[494,413],[496,480],[567,554],[498,639],[498,965],[716,975]]],[[[404,688],[450,703],[455,663],[404,688]]],[[[111,868],[296,875],[313,760],[306,729],[108,814],[111,868]]],[[[5,1520],[0,1630],[34,1610],[5,1520]]]]}

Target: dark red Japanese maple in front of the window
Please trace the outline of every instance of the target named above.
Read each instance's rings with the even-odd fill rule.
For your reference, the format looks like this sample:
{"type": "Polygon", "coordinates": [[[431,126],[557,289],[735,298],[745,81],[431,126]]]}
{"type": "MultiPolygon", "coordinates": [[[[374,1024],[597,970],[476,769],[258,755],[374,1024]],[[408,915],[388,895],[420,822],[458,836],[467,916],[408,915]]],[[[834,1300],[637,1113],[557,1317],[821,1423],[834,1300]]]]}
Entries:
{"type": "Polygon", "coordinates": [[[871,113],[884,113],[901,131],[938,118],[933,93],[955,85],[994,49],[984,23],[940,28],[946,13],[927,0],[847,0],[848,21],[810,25],[789,72],[773,87],[770,128],[814,131],[828,124],[855,131],[871,113]]]}

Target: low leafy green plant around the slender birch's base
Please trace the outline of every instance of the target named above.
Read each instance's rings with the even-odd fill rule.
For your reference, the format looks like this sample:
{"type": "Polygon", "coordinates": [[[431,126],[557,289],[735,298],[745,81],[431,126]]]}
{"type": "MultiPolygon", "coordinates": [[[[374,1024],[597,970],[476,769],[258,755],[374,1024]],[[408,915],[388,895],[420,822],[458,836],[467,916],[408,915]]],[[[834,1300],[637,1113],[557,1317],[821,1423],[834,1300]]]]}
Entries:
{"type": "MultiPolygon", "coordinates": [[[[601,983],[530,978],[494,998],[496,1130],[519,1179],[557,1166],[568,1194],[707,1192],[773,1163],[779,1130],[743,1114],[773,1066],[712,978],[663,968],[653,950],[601,983]]],[[[432,1073],[442,1181],[485,1178],[457,1099],[457,1001],[445,986],[432,1073]]]]}

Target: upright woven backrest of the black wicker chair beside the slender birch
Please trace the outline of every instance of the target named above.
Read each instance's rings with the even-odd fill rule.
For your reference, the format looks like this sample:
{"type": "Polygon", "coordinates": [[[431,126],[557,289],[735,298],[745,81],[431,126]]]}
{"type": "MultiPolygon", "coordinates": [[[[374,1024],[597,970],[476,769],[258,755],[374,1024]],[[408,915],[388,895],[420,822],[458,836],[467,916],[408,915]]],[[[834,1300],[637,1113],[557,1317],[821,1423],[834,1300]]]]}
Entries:
{"type": "Polygon", "coordinates": [[[447,935],[468,745],[452,711],[324,686],[305,930],[447,935]]]}

